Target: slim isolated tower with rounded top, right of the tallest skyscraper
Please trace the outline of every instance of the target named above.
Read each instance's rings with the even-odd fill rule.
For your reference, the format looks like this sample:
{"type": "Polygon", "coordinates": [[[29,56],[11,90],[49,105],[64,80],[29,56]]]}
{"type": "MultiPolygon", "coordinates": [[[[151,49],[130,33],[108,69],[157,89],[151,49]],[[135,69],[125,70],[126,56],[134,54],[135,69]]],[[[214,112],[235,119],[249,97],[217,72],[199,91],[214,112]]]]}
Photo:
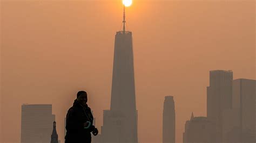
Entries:
{"type": "Polygon", "coordinates": [[[163,110],[163,143],[175,142],[175,108],[173,96],[165,96],[163,110]]]}

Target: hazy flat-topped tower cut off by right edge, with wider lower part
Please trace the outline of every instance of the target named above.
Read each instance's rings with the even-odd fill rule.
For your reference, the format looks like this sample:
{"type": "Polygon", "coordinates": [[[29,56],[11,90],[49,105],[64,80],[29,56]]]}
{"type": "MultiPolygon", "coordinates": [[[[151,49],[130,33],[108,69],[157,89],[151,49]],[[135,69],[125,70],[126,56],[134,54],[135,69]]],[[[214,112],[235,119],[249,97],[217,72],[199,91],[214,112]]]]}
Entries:
{"type": "Polygon", "coordinates": [[[255,80],[233,80],[232,109],[224,111],[224,142],[256,142],[255,80]]]}

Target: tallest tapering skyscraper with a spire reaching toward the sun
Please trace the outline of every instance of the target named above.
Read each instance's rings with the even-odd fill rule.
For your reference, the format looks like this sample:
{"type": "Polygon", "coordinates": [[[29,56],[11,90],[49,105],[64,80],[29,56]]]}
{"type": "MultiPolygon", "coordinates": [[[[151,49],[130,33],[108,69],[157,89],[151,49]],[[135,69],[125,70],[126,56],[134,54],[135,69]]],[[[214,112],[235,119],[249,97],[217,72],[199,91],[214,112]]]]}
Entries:
{"type": "Polygon", "coordinates": [[[132,32],[116,33],[110,110],[104,110],[102,142],[138,142],[132,32]]]}

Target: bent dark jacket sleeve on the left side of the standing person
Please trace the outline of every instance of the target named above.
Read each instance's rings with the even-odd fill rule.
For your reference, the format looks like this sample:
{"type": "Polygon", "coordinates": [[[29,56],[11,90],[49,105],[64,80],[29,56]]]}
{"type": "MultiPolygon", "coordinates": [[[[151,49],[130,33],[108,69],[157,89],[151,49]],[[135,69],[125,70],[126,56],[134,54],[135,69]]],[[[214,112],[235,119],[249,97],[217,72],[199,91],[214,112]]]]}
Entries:
{"type": "Polygon", "coordinates": [[[83,130],[83,123],[77,121],[76,112],[70,108],[66,115],[66,130],[71,132],[77,132],[83,130]]]}

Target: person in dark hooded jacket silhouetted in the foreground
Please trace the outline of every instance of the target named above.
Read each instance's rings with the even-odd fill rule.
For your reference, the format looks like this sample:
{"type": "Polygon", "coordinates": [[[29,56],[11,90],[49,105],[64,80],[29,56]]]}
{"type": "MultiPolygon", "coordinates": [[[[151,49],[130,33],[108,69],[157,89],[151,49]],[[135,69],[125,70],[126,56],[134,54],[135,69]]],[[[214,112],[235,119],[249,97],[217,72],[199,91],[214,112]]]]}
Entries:
{"type": "Polygon", "coordinates": [[[79,91],[66,115],[65,143],[91,143],[91,132],[98,134],[97,128],[92,125],[93,116],[86,102],[87,93],[79,91]]]}

